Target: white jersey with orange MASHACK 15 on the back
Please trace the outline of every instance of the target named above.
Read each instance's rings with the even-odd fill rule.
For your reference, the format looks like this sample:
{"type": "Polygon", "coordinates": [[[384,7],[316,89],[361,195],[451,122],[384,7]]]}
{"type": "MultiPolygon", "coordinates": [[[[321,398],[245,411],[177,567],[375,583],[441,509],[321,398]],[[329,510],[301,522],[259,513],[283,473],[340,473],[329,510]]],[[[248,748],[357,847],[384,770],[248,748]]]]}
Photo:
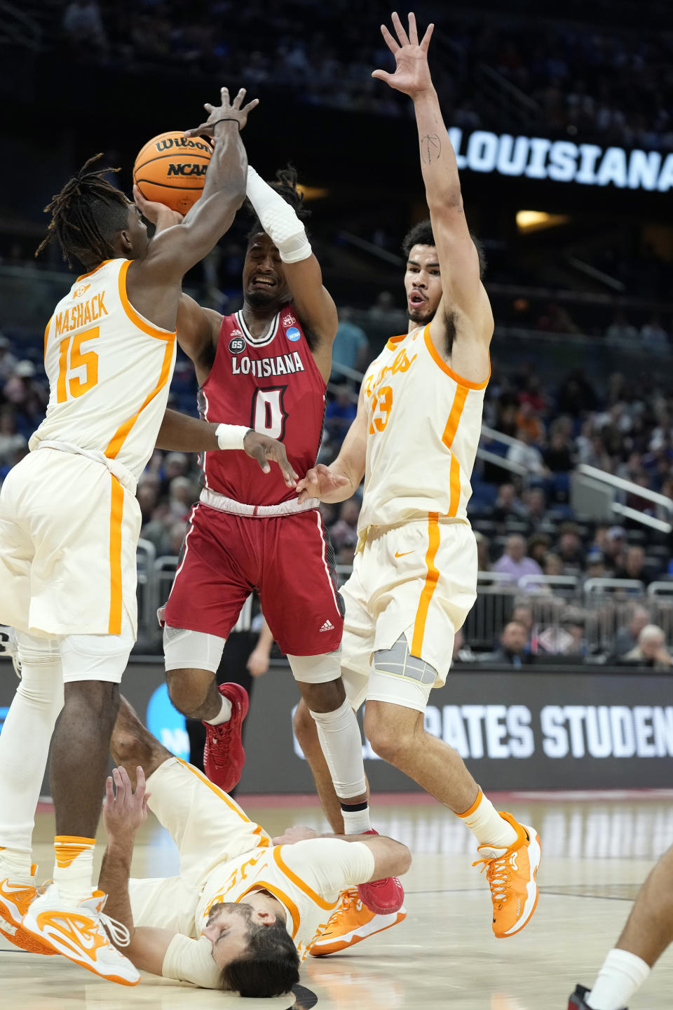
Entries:
{"type": "Polygon", "coordinates": [[[44,331],[46,417],[29,445],[63,441],[117,460],[137,480],[152,453],[176,364],[176,334],[126,295],[131,260],[78,277],[44,331]]]}

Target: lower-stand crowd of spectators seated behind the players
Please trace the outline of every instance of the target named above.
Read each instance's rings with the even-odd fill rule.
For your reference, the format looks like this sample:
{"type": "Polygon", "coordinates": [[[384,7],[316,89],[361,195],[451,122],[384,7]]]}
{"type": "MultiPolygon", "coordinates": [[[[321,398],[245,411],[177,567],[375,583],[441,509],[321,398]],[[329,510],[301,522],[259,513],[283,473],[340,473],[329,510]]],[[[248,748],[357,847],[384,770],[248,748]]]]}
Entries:
{"type": "MultiPolygon", "coordinates": [[[[388,310],[385,303],[378,306],[379,312],[388,310]]],[[[355,324],[348,311],[343,313],[340,332],[344,338],[337,341],[335,359],[359,371],[375,349],[372,354],[366,331],[355,324]]],[[[36,344],[28,351],[19,340],[0,334],[0,481],[25,454],[28,438],[44,414],[47,389],[38,355],[36,344]]],[[[507,580],[504,591],[513,600],[529,602],[522,604],[523,609],[517,608],[519,612],[503,613],[501,636],[497,627],[488,641],[483,636],[470,640],[468,621],[467,642],[459,642],[458,651],[463,660],[469,659],[472,649],[473,656],[492,653],[504,662],[502,656],[508,655],[515,664],[539,653],[565,654],[570,650],[574,654],[576,649],[589,654],[595,643],[586,638],[584,617],[573,600],[581,598],[587,580],[614,578],[632,582],[631,595],[625,597],[630,606],[645,603],[647,609],[641,606],[634,611],[633,620],[629,617],[627,621],[628,636],[610,649],[615,655],[629,653],[631,660],[640,656],[644,662],[664,664],[668,655],[664,638],[673,631],[673,615],[669,627],[661,608],[655,612],[649,606],[646,591],[653,582],[673,575],[668,540],[614,521],[597,525],[583,521],[572,512],[569,484],[572,469],[584,463],[673,500],[673,394],[666,389],[666,376],[627,378],[613,373],[603,386],[594,382],[586,369],[576,366],[554,384],[541,379],[531,362],[510,366],[503,367],[494,356],[484,421],[517,439],[507,447],[506,460],[519,465],[525,479],[515,474],[503,480],[504,471],[477,461],[470,517],[477,537],[479,570],[491,573],[501,585],[507,580]],[[572,592],[564,592],[562,585],[560,592],[558,586],[549,588],[544,579],[540,583],[540,577],[570,577],[572,592]],[[546,608],[544,619],[538,613],[541,606],[546,608]],[[531,608],[536,612],[535,621],[529,620],[531,608]],[[662,621],[666,632],[661,630],[662,621]],[[525,635],[522,625],[526,625],[525,635]],[[649,629],[647,633],[644,628],[649,629]]],[[[344,376],[335,369],[333,378],[343,380],[344,376]]],[[[356,389],[354,380],[330,384],[322,462],[329,463],[338,452],[355,416],[356,389]]],[[[182,356],[172,397],[172,405],[195,409],[194,374],[182,356]]],[[[499,450],[495,442],[485,444],[499,450]]],[[[137,495],[143,520],[141,535],[152,543],[157,557],[179,553],[198,494],[195,457],[159,450],[153,453],[137,495]]],[[[645,512],[653,510],[652,503],[637,490],[627,504],[645,512]]],[[[346,568],[352,564],[357,544],[359,498],[325,505],[323,513],[337,565],[346,568]]],[[[603,648],[603,653],[609,654],[609,650],[603,648]]]]}

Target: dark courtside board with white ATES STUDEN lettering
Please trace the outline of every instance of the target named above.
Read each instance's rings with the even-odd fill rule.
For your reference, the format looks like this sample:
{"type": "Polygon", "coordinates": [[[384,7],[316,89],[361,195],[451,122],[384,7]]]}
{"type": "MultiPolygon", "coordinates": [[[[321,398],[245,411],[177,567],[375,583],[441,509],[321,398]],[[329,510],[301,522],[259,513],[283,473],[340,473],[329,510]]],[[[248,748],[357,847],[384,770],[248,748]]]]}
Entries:
{"type": "MultiPolygon", "coordinates": [[[[0,664],[0,719],[16,678],[0,664]]],[[[169,749],[187,756],[183,717],[171,705],[163,666],[132,661],[122,691],[169,749]]],[[[247,717],[241,793],[312,793],[292,732],[299,700],[285,662],[255,683],[247,717]]],[[[487,790],[661,788],[673,784],[673,678],[634,668],[456,667],[433,691],[429,732],[454,746],[487,790]]],[[[367,743],[373,792],[418,787],[367,743]]],[[[45,786],[44,792],[48,792],[45,786]]]]}

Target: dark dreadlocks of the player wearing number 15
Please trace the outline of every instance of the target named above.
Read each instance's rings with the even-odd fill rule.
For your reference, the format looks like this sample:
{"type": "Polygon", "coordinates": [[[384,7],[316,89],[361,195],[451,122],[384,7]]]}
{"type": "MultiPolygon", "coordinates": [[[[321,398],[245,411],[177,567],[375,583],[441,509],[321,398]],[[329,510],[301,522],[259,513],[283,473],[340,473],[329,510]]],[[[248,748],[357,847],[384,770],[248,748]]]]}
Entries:
{"type": "Polygon", "coordinates": [[[100,154],[90,158],[44,208],[45,214],[51,213],[51,220],[46,236],[35,250],[36,257],[54,238],[69,267],[73,266],[73,259],[89,267],[114,256],[112,238],[127,225],[129,203],[122,191],[105,178],[107,173],[119,169],[92,171],[102,157],[100,154]]]}

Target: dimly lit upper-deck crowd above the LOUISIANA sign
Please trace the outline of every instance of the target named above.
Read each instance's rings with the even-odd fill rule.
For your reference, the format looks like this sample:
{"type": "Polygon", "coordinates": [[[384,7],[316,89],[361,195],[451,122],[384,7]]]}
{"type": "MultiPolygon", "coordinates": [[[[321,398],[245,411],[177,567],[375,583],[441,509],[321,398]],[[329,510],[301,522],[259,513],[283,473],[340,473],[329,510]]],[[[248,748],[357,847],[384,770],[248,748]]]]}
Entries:
{"type": "MultiPolygon", "coordinates": [[[[370,77],[389,62],[378,31],[385,7],[360,5],[357,17],[352,10],[348,0],[197,0],[188,8],[172,0],[71,0],[61,42],[76,61],[215,75],[226,66],[248,88],[285,86],[311,104],[409,114],[408,103],[370,77]]],[[[528,97],[529,125],[545,135],[673,148],[670,35],[537,18],[477,20],[436,5],[431,13],[438,84],[455,125],[504,125],[479,88],[485,66],[528,97]]]]}

